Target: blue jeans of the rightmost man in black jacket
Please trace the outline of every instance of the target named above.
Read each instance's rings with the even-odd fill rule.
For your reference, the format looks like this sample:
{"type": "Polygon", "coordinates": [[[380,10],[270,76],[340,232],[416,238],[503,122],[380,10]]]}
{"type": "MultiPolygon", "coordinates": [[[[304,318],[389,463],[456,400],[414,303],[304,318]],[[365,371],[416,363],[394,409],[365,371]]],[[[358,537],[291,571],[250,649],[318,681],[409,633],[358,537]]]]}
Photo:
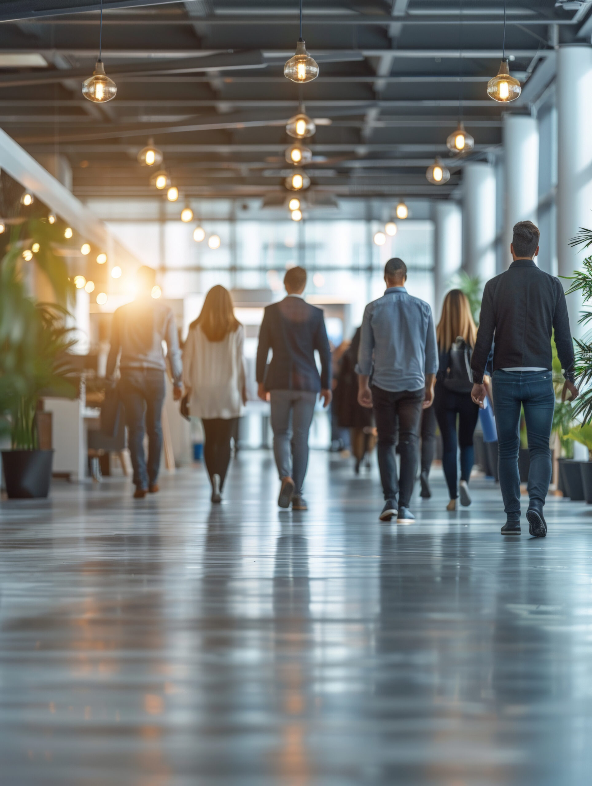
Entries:
{"type": "Polygon", "coordinates": [[[551,482],[551,450],[549,440],[555,392],[550,371],[502,371],[493,375],[495,424],[499,443],[499,485],[504,510],[509,520],[520,520],[520,405],[528,433],[528,496],[530,505],[545,504],[551,482]]]}

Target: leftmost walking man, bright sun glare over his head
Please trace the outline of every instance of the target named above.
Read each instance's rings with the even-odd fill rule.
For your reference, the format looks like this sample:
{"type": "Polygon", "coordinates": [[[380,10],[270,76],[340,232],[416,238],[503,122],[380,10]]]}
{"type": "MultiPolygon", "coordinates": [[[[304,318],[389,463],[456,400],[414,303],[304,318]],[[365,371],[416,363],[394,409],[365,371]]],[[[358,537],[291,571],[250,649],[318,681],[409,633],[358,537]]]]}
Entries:
{"type": "Polygon", "coordinates": [[[112,377],[120,358],[120,396],[126,413],[131,465],[134,468],[134,498],[158,491],[160,453],[163,446],[162,409],[167,369],[162,343],[173,375],[173,396],[181,398],[182,364],[175,318],[171,309],[152,297],[156,270],[143,265],[136,274],[138,296],[113,314],[107,376],[112,377]],[[144,433],[148,432],[148,463],[144,433]]]}

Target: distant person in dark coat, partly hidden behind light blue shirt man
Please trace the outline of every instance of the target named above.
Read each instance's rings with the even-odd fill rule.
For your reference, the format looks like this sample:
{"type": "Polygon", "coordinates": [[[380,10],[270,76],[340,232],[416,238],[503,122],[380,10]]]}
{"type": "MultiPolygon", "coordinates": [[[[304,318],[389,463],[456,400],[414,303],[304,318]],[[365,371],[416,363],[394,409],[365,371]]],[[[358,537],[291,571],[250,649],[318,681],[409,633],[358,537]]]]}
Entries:
{"type": "Polygon", "coordinates": [[[355,364],[358,362],[361,328],[355,331],[351,344],[341,358],[339,376],[333,406],[337,420],[342,428],[350,432],[351,453],[355,457],[355,474],[359,475],[360,465],[366,454],[370,454],[376,443],[373,435],[372,410],[358,403],[358,375],[355,364]]]}

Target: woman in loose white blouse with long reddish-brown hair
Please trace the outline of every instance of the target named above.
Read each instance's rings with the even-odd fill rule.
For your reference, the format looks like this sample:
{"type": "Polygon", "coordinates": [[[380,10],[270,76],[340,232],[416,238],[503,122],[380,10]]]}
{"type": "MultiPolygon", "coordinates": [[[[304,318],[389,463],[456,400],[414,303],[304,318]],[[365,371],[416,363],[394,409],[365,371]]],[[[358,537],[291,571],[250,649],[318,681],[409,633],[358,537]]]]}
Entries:
{"type": "Polygon", "coordinates": [[[189,325],[183,348],[189,413],[204,423],[204,461],[212,502],[221,500],[230,438],[246,402],[244,343],[245,329],[234,316],[230,293],[219,285],[212,287],[201,314],[189,325]]]}

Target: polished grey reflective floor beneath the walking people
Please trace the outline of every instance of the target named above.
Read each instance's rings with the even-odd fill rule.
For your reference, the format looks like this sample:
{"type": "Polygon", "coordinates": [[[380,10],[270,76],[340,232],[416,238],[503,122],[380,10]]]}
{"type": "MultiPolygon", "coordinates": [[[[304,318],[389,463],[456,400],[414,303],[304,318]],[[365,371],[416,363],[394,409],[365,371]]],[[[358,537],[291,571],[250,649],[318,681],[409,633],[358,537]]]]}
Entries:
{"type": "Polygon", "coordinates": [[[411,526],[320,452],[306,513],[263,452],[2,501],[0,784],[590,784],[592,506],[502,538],[440,474],[411,526]]]}

